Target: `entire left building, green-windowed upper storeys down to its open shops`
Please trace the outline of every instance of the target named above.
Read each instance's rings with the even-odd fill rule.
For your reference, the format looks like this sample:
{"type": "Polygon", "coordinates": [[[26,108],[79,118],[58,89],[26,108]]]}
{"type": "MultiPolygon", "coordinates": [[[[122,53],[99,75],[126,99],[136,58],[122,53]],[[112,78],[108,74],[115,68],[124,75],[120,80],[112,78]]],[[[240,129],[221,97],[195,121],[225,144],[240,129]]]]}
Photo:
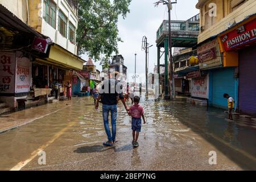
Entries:
{"type": "Polygon", "coordinates": [[[1,21],[1,55],[5,56],[7,51],[9,54],[13,53],[16,60],[22,57],[22,63],[16,65],[15,71],[28,82],[20,82],[22,85],[14,82],[13,86],[19,88],[19,91],[9,94],[2,91],[0,100],[15,109],[18,107],[17,100],[28,100],[31,90],[34,92],[32,101],[41,96],[52,96],[49,90],[53,90],[56,82],[60,85],[59,95],[65,96],[65,84],[73,81],[73,71],[81,70],[85,63],[77,56],[76,1],[1,0],[0,3],[3,15],[1,18],[5,20],[1,21]],[[20,33],[13,34],[13,28],[20,33]],[[31,30],[34,31],[32,34],[31,30]],[[26,45],[28,46],[24,47],[26,45]],[[22,52],[21,55],[19,51],[22,52]],[[24,75],[24,70],[29,74],[24,75]]]}

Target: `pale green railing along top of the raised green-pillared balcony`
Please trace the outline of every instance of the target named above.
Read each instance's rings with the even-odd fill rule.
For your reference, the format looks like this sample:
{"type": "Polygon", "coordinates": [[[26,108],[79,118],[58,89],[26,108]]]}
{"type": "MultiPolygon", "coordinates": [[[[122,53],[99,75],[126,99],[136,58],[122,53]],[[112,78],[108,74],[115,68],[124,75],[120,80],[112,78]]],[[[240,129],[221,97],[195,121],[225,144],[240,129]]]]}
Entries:
{"type": "MultiPolygon", "coordinates": [[[[163,23],[156,32],[156,39],[160,37],[163,33],[168,34],[169,22],[168,20],[163,20],[163,23]]],[[[189,21],[171,21],[172,31],[200,31],[199,22],[189,22],[189,21]]]]}

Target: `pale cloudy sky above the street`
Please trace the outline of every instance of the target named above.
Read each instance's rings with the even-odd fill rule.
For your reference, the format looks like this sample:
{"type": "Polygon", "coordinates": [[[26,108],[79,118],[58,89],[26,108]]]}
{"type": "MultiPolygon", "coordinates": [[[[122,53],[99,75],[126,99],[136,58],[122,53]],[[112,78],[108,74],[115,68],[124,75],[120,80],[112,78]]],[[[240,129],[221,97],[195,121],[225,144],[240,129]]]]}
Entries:
{"type": "MultiPolygon", "coordinates": [[[[146,57],[142,51],[142,37],[146,36],[148,43],[153,45],[149,50],[148,73],[154,72],[154,65],[157,65],[156,31],[164,19],[168,19],[166,5],[154,6],[157,0],[133,0],[129,7],[130,13],[126,19],[122,17],[118,21],[119,37],[123,42],[118,43],[119,54],[125,59],[127,74],[134,74],[135,53],[137,53],[137,73],[145,72],[146,57]]],[[[174,2],[175,0],[172,0],[174,2]]],[[[187,20],[199,13],[196,9],[198,0],[177,0],[171,11],[172,20],[187,20]]],[[[114,53],[113,53],[114,55],[114,53]]],[[[83,59],[88,60],[86,55],[83,59]]],[[[160,60],[163,64],[164,60],[160,60]]],[[[94,63],[97,69],[102,71],[99,62],[94,63]]]]}

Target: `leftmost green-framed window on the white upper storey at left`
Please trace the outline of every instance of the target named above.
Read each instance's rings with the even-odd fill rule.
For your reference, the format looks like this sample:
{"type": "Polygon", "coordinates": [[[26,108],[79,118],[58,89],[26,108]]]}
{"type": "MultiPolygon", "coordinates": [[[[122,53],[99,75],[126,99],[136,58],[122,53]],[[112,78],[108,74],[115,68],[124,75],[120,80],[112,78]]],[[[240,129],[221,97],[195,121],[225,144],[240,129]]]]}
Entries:
{"type": "Polygon", "coordinates": [[[51,0],[44,0],[43,19],[50,26],[56,28],[56,5],[51,0]]]}

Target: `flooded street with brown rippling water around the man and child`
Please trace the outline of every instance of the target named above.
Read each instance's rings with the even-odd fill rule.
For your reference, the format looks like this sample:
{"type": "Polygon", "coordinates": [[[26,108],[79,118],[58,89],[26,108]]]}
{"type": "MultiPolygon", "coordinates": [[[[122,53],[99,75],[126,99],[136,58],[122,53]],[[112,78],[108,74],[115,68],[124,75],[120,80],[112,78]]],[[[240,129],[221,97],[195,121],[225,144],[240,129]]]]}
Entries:
{"type": "MultiPolygon", "coordinates": [[[[129,105],[130,102],[129,102],[129,105]]],[[[256,121],[224,110],[176,101],[141,99],[147,124],[133,148],[131,118],[119,103],[118,143],[102,146],[106,134],[92,97],[38,106],[1,119],[38,118],[0,134],[1,170],[241,170],[256,169],[256,121]],[[38,114],[40,113],[40,114],[38,114]],[[43,117],[40,116],[44,115],[43,117]],[[38,152],[46,152],[39,165],[38,152]],[[209,164],[209,152],[217,164],[209,164]]]]}

